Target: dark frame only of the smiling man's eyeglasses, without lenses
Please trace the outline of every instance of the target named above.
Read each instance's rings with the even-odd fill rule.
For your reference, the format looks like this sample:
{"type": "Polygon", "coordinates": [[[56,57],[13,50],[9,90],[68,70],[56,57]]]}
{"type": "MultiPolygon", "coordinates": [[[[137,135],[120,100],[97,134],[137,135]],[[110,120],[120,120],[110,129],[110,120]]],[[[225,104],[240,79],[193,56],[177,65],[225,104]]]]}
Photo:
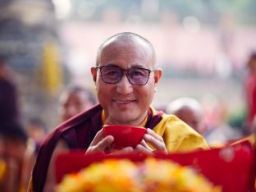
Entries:
{"type": "Polygon", "coordinates": [[[148,81],[149,81],[149,75],[150,75],[150,73],[153,72],[153,71],[158,71],[157,69],[150,70],[150,69],[146,69],[146,68],[140,67],[140,66],[134,66],[134,67],[131,67],[131,68],[126,69],[126,70],[125,70],[125,69],[122,69],[122,68],[119,67],[119,66],[94,66],[94,69],[95,69],[95,70],[96,70],[96,69],[99,69],[101,79],[102,79],[103,82],[106,83],[106,84],[117,84],[117,83],[120,82],[120,80],[123,78],[124,72],[126,72],[126,77],[127,77],[128,81],[129,81],[129,83],[130,83],[131,85],[146,85],[146,84],[148,83],[148,81]],[[120,78],[119,78],[117,81],[115,81],[115,82],[108,82],[108,81],[106,81],[106,80],[103,79],[102,69],[103,69],[103,68],[111,68],[111,67],[112,67],[112,68],[117,68],[119,71],[121,71],[121,76],[120,76],[120,78]],[[141,69],[141,70],[145,70],[145,71],[148,71],[148,72],[149,72],[148,78],[147,78],[147,80],[145,81],[144,84],[135,84],[135,83],[132,82],[132,80],[130,79],[129,71],[130,71],[130,70],[133,70],[133,69],[141,69]]]}

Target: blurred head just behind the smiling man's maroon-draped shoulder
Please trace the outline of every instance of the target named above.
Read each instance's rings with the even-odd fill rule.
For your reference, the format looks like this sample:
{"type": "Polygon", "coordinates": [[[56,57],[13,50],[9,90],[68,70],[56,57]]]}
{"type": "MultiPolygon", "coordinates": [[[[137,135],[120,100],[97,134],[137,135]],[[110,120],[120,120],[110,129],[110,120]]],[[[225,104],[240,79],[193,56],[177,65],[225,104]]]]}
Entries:
{"type": "Polygon", "coordinates": [[[80,85],[71,85],[60,97],[59,113],[62,121],[85,112],[96,104],[96,98],[90,89],[80,85]]]}

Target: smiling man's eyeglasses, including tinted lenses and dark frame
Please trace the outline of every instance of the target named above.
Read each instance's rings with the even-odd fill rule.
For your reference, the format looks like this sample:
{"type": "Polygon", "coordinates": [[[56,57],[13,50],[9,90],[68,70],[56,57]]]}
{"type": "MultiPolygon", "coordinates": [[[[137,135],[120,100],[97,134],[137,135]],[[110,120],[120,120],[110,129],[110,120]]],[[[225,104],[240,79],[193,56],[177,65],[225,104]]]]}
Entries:
{"type": "Polygon", "coordinates": [[[126,72],[127,79],[131,85],[146,85],[149,80],[151,72],[156,70],[149,70],[142,67],[131,67],[124,70],[118,66],[95,66],[94,69],[100,70],[100,75],[106,84],[117,84],[126,72]]]}

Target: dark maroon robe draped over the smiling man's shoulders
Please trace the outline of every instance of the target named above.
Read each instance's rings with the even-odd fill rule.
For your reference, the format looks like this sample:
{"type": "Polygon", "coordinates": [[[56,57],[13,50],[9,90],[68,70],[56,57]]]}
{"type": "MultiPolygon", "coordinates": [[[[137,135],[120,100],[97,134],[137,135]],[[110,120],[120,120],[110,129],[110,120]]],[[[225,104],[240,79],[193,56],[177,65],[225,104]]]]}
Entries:
{"type": "MultiPolygon", "coordinates": [[[[103,108],[100,105],[96,105],[88,111],[62,123],[62,125],[57,126],[48,135],[39,149],[39,154],[34,165],[32,174],[34,192],[43,191],[49,162],[58,139],[65,139],[70,149],[87,149],[98,130],[103,126],[101,121],[102,110],[103,108]]],[[[149,110],[148,121],[145,127],[153,129],[154,126],[157,126],[158,122],[162,119],[162,113],[158,112],[157,115],[153,116],[151,110],[149,110]]]]}

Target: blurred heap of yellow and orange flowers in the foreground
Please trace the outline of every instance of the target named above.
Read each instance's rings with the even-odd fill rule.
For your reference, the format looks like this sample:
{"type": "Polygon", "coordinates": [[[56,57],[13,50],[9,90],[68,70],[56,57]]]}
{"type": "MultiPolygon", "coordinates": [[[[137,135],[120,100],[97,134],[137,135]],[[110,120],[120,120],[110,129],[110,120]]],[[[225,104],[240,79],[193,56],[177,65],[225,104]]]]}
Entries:
{"type": "Polygon", "coordinates": [[[155,158],[139,163],[128,159],[106,159],[66,175],[57,185],[57,192],[98,191],[221,192],[222,189],[190,167],[155,158]]]}

